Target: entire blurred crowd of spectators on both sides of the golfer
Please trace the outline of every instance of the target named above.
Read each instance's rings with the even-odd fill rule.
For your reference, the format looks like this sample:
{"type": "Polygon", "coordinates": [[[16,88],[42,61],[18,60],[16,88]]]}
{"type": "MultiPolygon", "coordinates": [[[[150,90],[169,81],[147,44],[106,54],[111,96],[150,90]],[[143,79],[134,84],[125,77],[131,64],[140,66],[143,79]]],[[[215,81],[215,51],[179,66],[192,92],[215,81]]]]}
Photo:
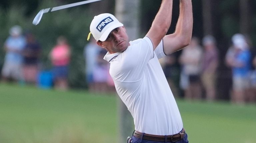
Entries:
{"type": "MultiPolygon", "coordinates": [[[[18,82],[45,88],[68,90],[71,47],[65,36],[56,39],[49,54],[51,70],[43,71],[40,59],[42,49],[35,36],[13,26],[4,43],[5,58],[1,69],[2,82],[18,82]]],[[[191,43],[180,53],[175,52],[160,59],[167,81],[175,96],[187,100],[218,100],[218,67],[225,63],[232,71],[230,100],[235,104],[256,102],[256,57],[248,37],[235,34],[230,39],[225,60],[221,61],[218,43],[211,35],[201,40],[192,37],[191,43]],[[180,93],[183,93],[182,95],[180,93]]],[[[91,92],[114,92],[109,75],[109,63],[103,59],[106,50],[96,44],[94,38],[85,45],[85,80],[91,92]]]]}

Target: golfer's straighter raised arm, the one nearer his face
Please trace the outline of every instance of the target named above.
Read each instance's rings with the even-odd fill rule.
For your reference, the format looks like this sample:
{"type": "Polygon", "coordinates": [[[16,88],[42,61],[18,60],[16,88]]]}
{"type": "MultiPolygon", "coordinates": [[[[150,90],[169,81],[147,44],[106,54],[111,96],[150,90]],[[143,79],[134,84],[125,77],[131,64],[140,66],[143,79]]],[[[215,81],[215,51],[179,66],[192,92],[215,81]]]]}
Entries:
{"type": "Polygon", "coordinates": [[[172,0],[162,0],[161,7],[146,35],[152,41],[154,50],[170,28],[171,19],[172,0]]]}

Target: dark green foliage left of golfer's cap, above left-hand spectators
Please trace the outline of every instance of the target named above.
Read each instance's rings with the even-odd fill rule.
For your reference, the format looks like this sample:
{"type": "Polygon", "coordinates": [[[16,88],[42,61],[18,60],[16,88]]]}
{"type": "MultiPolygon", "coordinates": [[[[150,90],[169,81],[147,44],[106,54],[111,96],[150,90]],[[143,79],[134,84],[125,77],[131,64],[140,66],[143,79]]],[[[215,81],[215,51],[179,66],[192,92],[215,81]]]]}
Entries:
{"type": "MultiPolygon", "coordinates": [[[[20,25],[24,32],[32,32],[42,47],[41,63],[42,70],[49,70],[51,63],[48,54],[56,44],[58,36],[63,35],[68,39],[72,49],[69,84],[72,87],[84,87],[84,57],[83,48],[87,43],[89,25],[92,19],[89,13],[89,6],[84,5],[77,8],[64,9],[44,14],[39,25],[32,25],[32,21],[40,9],[58,6],[56,1],[41,1],[30,15],[26,15],[26,6],[11,5],[8,9],[0,9],[0,44],[3,45],[8,37],[9,29],[14,25],[20,25]]],[[[3,64],[4,52],[1,52],[0,65],[3,64]]]]}

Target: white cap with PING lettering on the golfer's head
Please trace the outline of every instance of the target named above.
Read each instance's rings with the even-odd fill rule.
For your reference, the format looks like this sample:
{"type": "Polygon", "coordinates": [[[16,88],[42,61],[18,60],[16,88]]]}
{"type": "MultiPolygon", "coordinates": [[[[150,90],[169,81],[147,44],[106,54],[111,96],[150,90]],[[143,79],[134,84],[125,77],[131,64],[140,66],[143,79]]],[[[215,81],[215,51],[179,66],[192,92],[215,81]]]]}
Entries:
{"type": "Polygon", "coordinates": [[[121,26],[124,25],[115,16],[103,13],[94,17],[90,25],[90,32],[96,41],[105,41],[112,30],[121,26]]]}

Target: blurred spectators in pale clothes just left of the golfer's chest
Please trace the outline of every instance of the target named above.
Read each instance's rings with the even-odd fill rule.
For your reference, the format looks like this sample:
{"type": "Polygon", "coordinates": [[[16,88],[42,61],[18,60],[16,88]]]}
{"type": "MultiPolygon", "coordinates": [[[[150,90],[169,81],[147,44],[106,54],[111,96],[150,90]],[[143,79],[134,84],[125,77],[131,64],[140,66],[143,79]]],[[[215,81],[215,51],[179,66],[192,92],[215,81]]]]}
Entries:
{"type": "Polygon", "coordinates": [[[84,47],[86,82],[91,92],[113,92],[114,82],[109,74],[109,62],[103,59],[107,51],[94,38],[84,47]]]}

